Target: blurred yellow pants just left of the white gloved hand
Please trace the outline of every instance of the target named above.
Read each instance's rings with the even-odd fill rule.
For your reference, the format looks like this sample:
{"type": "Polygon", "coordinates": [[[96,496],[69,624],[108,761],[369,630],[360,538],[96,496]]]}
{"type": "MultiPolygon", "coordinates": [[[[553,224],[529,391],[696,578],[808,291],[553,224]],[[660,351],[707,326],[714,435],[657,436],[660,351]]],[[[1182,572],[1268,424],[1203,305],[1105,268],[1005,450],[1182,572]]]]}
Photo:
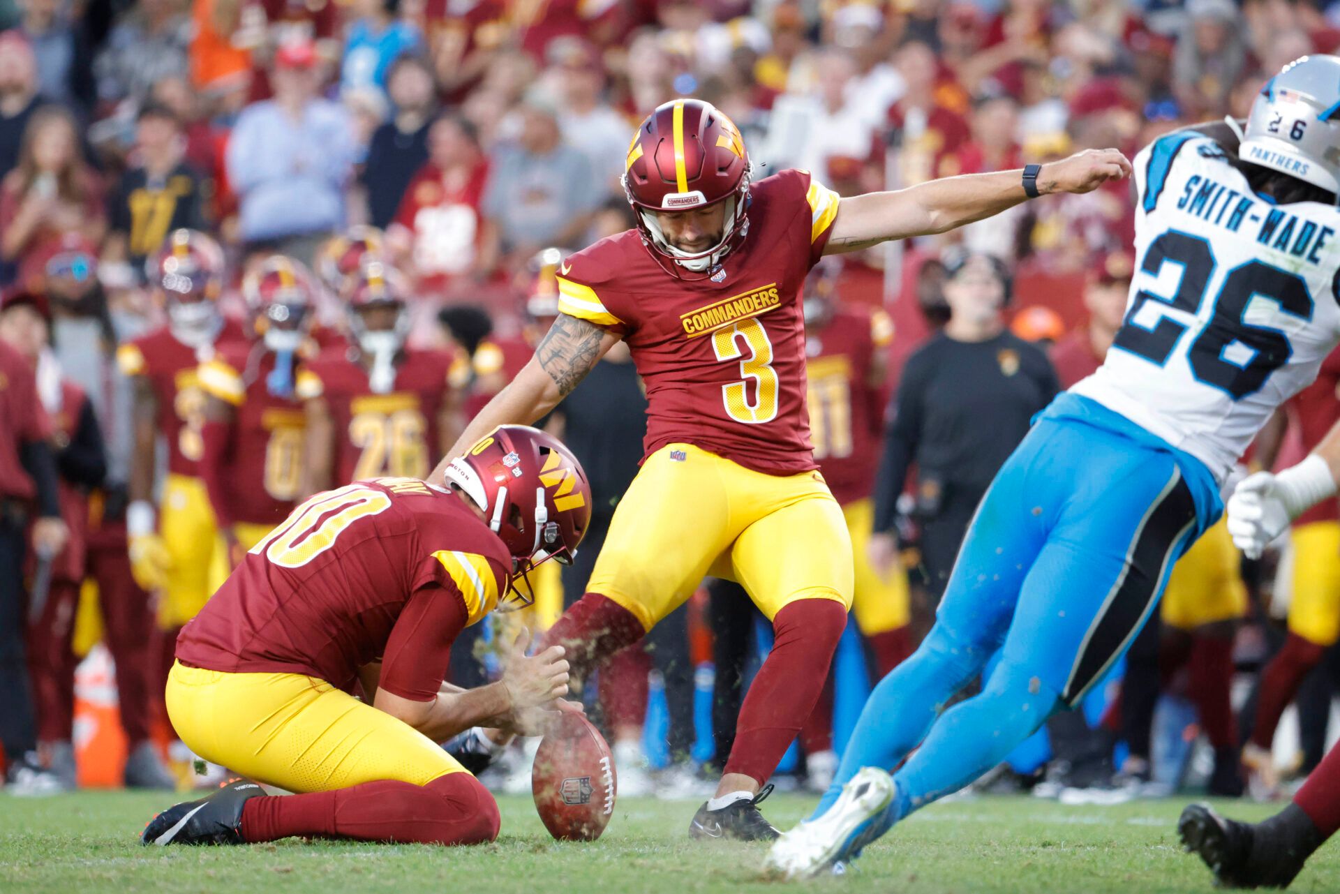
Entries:
{"type": "Polygon", "coordinates": [[[1238,574],[1238,562],[1227,521],[1219,519],[1172,566],[1160,609],[1163,623],[1194,630],[1241,618],[1248,610],[1248,591],[1238,574]]]}

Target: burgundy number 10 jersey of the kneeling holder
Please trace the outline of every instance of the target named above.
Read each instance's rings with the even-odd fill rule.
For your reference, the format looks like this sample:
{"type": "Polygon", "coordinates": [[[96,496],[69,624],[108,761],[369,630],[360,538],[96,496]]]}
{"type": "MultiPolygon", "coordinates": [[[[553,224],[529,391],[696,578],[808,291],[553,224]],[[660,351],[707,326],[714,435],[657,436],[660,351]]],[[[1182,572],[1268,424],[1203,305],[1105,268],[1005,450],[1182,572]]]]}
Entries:
{"type": "Polygon", "coordinates": [[[431,613],[450,600],[474,623],[507,591],[511,567],[507,547],[457,495],[411,478],[356,481],[307,500],[252,547],[182,629],[177,658],[228,673],[308,674],[346,690],[360,666],[382,659],[385,688],[431,697],[445,658],[398,650],[415,631],[393,637],[397,621],[407,606],[431,613]],[[415,685],[389,677],[405,661],[417,666],[415,685]]]}

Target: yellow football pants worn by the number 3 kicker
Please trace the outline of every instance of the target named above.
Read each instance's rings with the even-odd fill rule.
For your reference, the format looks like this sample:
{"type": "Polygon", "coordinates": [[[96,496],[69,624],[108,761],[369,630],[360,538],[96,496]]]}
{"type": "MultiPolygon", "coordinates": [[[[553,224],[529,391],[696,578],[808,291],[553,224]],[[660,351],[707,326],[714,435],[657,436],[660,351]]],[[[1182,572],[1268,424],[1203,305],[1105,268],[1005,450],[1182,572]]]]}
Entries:
{"type": "Polygon", "coordinates": [[[587,590],[650,630],[708,575],[740,582],[769,621],[797,599],[850,609],[851,536],[823,476],[764,474],[690,444],[647,457],[587,590]]]}

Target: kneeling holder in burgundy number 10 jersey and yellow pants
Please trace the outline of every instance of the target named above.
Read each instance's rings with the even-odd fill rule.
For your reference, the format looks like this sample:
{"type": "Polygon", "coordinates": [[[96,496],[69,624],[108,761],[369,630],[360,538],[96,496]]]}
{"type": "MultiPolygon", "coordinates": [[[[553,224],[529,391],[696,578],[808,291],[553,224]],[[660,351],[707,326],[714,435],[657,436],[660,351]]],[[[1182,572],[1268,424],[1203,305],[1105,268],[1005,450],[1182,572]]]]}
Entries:
{"type": "Polygon", "coordinates": [[[517,576],[571,562],[591,492],[568,449],[525,426],[492,432],[446,480],[314,496],[182,630],[173,725],[255,781],[163,811],[143,843],[493,840],[493,796],[437,743],[485,721],[540,732],[568,666],[560,647],[527,658],[523,631],[500,682],[462,690],[442,681],[448,655],[466,626],[515,606],[517,576]],[[302,793],[265,796],[256,783],[302,793]]]}

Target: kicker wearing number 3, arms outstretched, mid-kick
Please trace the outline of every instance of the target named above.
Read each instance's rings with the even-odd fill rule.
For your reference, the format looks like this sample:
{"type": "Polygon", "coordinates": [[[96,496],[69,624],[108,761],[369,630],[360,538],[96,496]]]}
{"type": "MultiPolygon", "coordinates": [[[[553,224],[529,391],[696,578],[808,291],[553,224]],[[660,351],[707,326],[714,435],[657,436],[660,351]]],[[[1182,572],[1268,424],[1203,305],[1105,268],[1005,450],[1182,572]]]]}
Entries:
{"type": "Polygon", "coordinates": [[[702,101],[667,102],[638,127],[623,176],[636,228],[563,261],[557,320],[449,457],[497,425],[540,418],[610,346],[628,343],[647,386],[646,458],[587,594],[543,642],[567,646],[583,676],[704,576],[744,584],[775,646],[693,835],[776,838],[758,812],[762,784],[813,709],[851,606],[851,537],[805,411],[809,268],[825,253],[946,232],[1128,173],[1119,151],[1091,150],[1041,174],[1029,165],[839,198],[803,170],[753,182],[740,131],[702,101]]]}

